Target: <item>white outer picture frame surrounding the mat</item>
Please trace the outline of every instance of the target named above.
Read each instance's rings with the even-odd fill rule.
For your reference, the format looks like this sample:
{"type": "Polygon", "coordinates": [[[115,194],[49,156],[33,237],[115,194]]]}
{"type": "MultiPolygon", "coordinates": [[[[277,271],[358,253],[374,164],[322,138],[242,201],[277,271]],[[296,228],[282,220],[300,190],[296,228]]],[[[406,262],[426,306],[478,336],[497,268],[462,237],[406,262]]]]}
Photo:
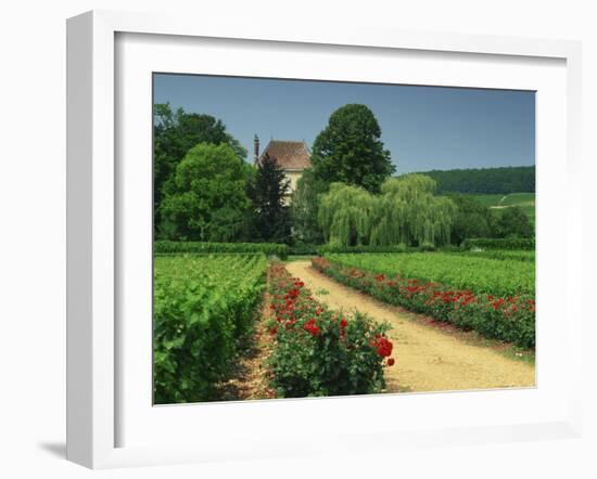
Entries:
{"type": "MultiPolygon", "coordinates": [[[[116,37],[118,35],[162,35],[186,39],[236,39],[239,41],[291,42],[309,48],[367,48],[368,52],[408,50],[417,52],[465,53],[508,56],[524,63],[525,59],[554,59],[564,62],[566,121],[559,133],[564,142],[569,186],[569,202],[581,192],[573,184],[580,174],[580,105],[581,105],[581,47],[577,42],[561,40],[532,40],[488,36],[452,34],[421,34],[388,31],[374,28],[320,28],[317,25],[284,25],[261,28],[213,21],[198,26],[190,18],[166,17],[120,12],[94,11],[68,20],[67,23],[67,458],[92,468],[131,465],[169,464],[181,462],[225,461],[238,457],[272,457],[295,454],[333,453],[344,450],[398,449],[416,443],[421,446],[442,443],[472,443],[541,438],[577,437],[582,429],[581,367],[570,370],[562,386],[566,411],[558,411],[544,420],[488,426],[473,419],[460,428],[433,426],[408,430],[358,429],[353,433],[341,431],[338,441],[280,441],[278,437],[257,438],[254,444],[225,448],[214,440],[209,448],[201,441],[180,444],[119,444],[118,401],[123,390],[116,367],[120,347],[117,311],[117,268],[123,250],[116,247],[122,226],[118,211],[116,165],[117,92],[115,77],[118,65],[116,37]],[[478,422],[475,424],[475,420],[478,422]],[[168,445],[166,445],[168,444],[168,445]],[[254,450],[252,445],[259,445],[254,450]]],[[[122,66],[122,65],[120,65],[122,66]]],[[[558,124],[560,125],[560,124],[558,124]]],[[[541,125],[539,125],[541,128],[541,125]]],[[[563,161],[563,159],[562,159],[563,161]]],[[[541,199],[539,199],[541,202],[541,199]]],[[[579,203],[581,203],[579,200],[579,203]]],[[[567,287],[573,275],[580,275],[581,248],[574,248],[574,238],[582,237],[580,209],[566,209],[567,229],[562,236],[566,261],[562,268],[567,287]]],[[[541,218],[539,218],[541,221],[541,218]]],[[[539,239],[541,241],[541,239],[539,239]]],[[[538,253],[541,257],[541,251],[538,253]]],[[[537,260],[539,261],[539,260],[537,260]]],[[[541,274],[541,267],[538,267],[541,274]]],[[[569,292],[570,295],[570,292],[569,292]]],[[[538,302],[541,308],[541,302],[538,302]]],[[[562,306],[563,308],[563,306],[562,306]]],[[[580,305],[566,303],[568,342],[563,346],[569,365],[580,365],[582,344],[582,314],[580,305]]],[[[409,401],[422,397],[410,396],[409,401]]],[[[385,403],[396,398],[384,398],[385,403]]],[[[494,400],[501,400],[497,396],[494,400]]],[[[343,401],[351,399],[343,399],[343,401]]],[[[369,401],[358,398],[355,401],[369,401]]],[[[427,399],[424,399],[427,401],[427,399]]],[[[532,401],[533,398],[528,398],[532,401]]],[[[307,401],[312,411],[322,410],[336,399],[307,401]]],[[[270,403],[278,403],[272,401],[270,403]]],[[[378,403],[380,404],[380,403],[378,403]]],[[[236,407],[236,404],[229,404],[236,407]]],[[[301,406],[294,401],[294,407],[301,406]]],[[[179,410],[185,419],[191,406],[179,410]]],[[[252,411],[264,409],[253,403],[252,411]]],[[[277,407],[277,406],[267,406],[277,407]]],[[[284,414],[277,407],[276,414],[284,414]]],[[[213,410],[215,411],[215,410],[213,410]]],[[[247,410],[237,410],[236,422],[243,420],[247,410]]],[[[481,416],[479,416],[481,417],[481,416]]],[[[206,433],[208,433],[206,431],[206,433]]],[[[258,436],[258,435],[257,435],[258,436]]],[[[287,438],[288,439],[288,438],[287,438]]]]}

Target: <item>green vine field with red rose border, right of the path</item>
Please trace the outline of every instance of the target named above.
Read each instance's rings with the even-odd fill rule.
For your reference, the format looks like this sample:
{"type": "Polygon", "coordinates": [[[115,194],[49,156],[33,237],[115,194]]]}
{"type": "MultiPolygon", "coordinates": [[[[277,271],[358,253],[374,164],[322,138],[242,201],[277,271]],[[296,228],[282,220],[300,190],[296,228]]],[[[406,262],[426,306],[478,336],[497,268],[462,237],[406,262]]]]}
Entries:
{"type": "Polygon", "coordinates": [[[535,346],[532,263],[418,255],[329,255],[313,266],[384,302],[523,348],[535,346]]]}

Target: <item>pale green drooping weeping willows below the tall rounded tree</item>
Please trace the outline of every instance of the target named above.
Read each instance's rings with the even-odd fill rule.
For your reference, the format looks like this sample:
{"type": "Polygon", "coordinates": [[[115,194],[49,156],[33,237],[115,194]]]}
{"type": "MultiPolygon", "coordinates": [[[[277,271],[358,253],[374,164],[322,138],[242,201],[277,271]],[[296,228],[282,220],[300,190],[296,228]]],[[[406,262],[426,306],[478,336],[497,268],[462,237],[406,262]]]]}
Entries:
{"type": "Polygon", "coordinates": [[[335,183],[321,199],[319,222],[335,245],[443,245],[449,243],[456,206],[435,196],[435,181],[423,174],[391,178],[381,195],[335,183]]]}

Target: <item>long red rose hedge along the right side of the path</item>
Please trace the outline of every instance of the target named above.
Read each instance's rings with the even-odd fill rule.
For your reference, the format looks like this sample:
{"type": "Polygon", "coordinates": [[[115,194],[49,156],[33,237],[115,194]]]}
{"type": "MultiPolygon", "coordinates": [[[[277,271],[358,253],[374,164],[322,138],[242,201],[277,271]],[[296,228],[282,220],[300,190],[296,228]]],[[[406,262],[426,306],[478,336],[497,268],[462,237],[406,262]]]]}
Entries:
{"type": "Polygon", "coordinates": [[[313,266],[338,282],[390,305],[522,348],[535,346],[535,301],[531,295],[494,297],[474,294],[470,289],[453,289],[434,282],[388,277],[322,257],[314,258],[313,266]]]}

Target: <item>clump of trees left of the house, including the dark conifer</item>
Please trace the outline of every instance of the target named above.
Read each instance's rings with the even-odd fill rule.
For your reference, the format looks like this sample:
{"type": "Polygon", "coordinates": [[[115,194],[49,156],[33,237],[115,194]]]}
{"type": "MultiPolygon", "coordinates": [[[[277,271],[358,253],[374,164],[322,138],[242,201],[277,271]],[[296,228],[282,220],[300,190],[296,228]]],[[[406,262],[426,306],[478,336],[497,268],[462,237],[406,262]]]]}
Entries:
{"type": "Polygon", "coordinates": [[[154,105],[156,239],[285,242],[289,181],[274,158],[261,168],[211,115],[154,105]]]}

